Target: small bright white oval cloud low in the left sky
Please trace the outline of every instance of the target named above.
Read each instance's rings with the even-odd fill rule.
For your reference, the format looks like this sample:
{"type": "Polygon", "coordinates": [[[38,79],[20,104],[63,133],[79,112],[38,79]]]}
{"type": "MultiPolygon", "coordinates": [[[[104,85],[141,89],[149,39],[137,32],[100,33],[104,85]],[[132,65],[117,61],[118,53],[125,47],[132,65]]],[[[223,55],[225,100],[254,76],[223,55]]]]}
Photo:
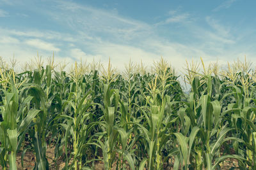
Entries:
{"type": "Polygon", "coordinates": [[[38,49],[51,51],[51,52],[59,52],[60,48],[57,48],[52,43],[47,43],[41,39],[28,39],[24,43],[26,43],[29,46],[33,46],[38,49]]]}

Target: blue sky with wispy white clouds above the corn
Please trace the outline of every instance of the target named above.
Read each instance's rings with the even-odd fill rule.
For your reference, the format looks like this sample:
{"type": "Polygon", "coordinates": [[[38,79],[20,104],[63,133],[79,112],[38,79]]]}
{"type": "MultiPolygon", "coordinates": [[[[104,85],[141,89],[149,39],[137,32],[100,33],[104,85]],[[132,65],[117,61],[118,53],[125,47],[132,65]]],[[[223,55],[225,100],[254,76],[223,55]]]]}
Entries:
{"type": "Polygon", "coordinates": [[[117,69],[161,57],[256,63],[256,1],[0,0],[0,56],[101,60],[117,69]]]}

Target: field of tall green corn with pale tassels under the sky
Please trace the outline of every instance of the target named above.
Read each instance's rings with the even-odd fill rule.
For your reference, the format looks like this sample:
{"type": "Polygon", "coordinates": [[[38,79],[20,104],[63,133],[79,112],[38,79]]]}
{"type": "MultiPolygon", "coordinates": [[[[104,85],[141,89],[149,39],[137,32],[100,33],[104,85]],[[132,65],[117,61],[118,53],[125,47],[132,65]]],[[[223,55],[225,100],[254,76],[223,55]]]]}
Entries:
{"type": "Polygon", "coordinates": [[[191,62],[179,78],[164,59],[122,73],[98,62],[57,71],[49,61],[22,73],[1,66],[0,169],[17,169],[26,152],[35,169],[51,169],[50,146],[64,169],[256,169],[250,62],[191,62]]]}

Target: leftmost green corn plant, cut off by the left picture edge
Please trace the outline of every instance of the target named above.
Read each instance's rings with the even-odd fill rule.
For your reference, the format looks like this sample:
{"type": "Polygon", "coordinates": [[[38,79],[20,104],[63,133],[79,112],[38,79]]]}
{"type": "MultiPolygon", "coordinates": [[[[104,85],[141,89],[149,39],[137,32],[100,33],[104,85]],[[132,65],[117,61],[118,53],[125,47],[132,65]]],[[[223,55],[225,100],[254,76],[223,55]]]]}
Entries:
{"type": "Polygon", "coordinates": [[[20,99],[19,96],[22,93],[20,87],[24,81],[15,83],[14,73],[8,74],[8,76],[10,87],[1,89],[4,92],[4,100],[3,106],[1,106],[3,122],[0,122],[0,162],[3,169],[17,169],[16,154],[24,141],[25,133],[29,127],[33,126],[33,118],[38,115],[40,110],[31,110],[28,107],[31,103],[31,96],[20,99]]]}

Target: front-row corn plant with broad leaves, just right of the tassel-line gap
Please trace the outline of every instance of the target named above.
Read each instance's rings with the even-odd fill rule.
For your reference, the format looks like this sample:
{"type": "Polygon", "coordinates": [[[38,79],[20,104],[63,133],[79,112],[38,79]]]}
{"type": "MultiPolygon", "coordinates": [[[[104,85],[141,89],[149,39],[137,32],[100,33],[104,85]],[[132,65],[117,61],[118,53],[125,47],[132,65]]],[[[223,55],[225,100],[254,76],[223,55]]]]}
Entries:
{"type": "MultiPolygon", "coordinates": [[[[243,140],[227,135],[234,129],[230,128],[231,125],[228,122],[223,122],[223,118],[234,110],[229,109],[221,113],[220,101],[223,101],[227,95],[223,96],[220,101],[211,101],[212,77],[206,76],[205,79],[204,81],[207,82],[206,89],[202,89],[203,91],[200,92],[198,88],[192,87],[195,93],[191,92],[186,108],[180,110],[184,112],[182,115],[186,114],[190,118],[191,127],[200,129],[195,139],[195,148],[192,148],[195,157],[191,156],[190,158],[191,166],[195,169],[202,169],[203,166],[207,169],[215,169],[221,161],[228,158],[243,162],[244,158],[241,155],[220,155],[220,147],[225,142],[230,140],[243,142],[243,140]]],[[[193,85],[199,86],[199,82],[195,78],[193,85]]],[[[245,167],[244,164],[241,166],[245,167]]]]}

